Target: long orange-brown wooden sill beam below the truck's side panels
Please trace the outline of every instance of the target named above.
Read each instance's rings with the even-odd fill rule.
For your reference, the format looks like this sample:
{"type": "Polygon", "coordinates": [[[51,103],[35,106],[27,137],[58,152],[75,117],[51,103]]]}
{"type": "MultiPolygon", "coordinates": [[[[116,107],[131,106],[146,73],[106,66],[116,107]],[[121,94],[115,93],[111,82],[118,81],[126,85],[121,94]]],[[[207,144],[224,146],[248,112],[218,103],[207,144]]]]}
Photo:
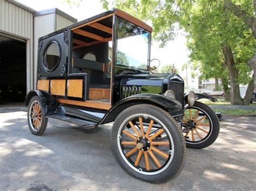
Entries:
{"type": "Polygon", "coordinates": [[[111,108],[111,104],[105,103],[105,102],[96,102],[96,101],[90,101],[90,100],[87,100],[87,101],[65,100],[61,98],[57,100],[60,103],[79,105],[79,106],[88,107],[88,108],[97,108],[97,109],[104,109],[104,110],[109,110],[111,108]]]}

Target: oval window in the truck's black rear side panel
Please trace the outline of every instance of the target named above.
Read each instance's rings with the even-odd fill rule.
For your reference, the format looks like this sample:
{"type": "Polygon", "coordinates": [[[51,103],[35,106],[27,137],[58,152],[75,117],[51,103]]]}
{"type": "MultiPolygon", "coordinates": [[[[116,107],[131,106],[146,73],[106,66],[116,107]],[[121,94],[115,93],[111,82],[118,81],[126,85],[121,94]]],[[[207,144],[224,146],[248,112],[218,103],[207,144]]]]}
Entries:
{"type": "Polygon", "coordinates": [[[44,66],[49,71],[55,70],[60,61],[60,48],[57,42],[52,42],[44,54],[44,66]]]}

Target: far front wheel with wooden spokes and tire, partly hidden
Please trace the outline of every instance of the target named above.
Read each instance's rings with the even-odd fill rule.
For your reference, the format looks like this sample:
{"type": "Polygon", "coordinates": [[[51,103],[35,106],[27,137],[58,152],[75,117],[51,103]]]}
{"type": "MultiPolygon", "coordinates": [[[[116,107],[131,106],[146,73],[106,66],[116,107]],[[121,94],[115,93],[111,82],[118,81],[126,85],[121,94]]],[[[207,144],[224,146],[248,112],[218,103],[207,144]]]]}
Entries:
{"type": "Polygon", "coordinates": [[[182,124],[187,147],[210,146],[219,134],[218,117],[211,108],[201,102],[196,102],[184,111],[182,124]]]}

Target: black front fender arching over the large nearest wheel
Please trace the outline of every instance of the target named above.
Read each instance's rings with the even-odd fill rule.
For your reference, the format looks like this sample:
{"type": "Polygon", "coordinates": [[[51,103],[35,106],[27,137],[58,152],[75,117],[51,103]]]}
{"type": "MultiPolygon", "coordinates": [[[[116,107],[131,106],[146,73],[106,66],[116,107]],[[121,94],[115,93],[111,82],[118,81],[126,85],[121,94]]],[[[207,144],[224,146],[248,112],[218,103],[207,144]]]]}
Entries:
{"type": "Polygon", "coordinates": [[[99,124],[113,122],[120,112],[136,104],[152,104],[164,109],[172,116],[183,115],[182,104],[173,98],[159,94],[137,94],[124,98],[123,100],[114,104],[112,108],[107,111],[99,124]]]}

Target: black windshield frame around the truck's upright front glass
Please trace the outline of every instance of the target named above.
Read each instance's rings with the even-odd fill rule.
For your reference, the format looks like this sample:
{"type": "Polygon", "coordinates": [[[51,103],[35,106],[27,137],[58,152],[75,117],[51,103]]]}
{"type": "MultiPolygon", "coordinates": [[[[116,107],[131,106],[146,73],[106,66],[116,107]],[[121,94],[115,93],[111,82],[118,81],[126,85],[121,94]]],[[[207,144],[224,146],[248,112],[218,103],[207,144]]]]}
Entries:
{"type": "MultiPolygon", "coordinates": [[[[114,49],[112,58],[115,58],[114,62],[113,62],[114,70],[116,70],[116,67],[119,67],[119,68],[138,70],[138,71],[140,71],[142,73],[149,73],[149,71],[150,71],[151,32],[148,31],[148,30],[143,29],[142,27],[140,27],[140,26],[138,26],[138,25],[130,22],[129,20],[126,20],[126,19],[122,18],[122,17],[116,16],[116,19],[113,19],[113,20],[115,21],[115,22],[113,22],[114,33],[113,33],[113,46],[112,46],[112,48],[114,49]],[[127,22],[127,23],[129,23],[129,24],[131,24],[131,25],[133,25],[135,27],[138,27],[139,29],[141,29],[141,30],[145,31],[146,33],[148,33],[147,62],[146,62],[147,67],[145,69],[144,68],[139,68],[139,67],[134,67],[134,66],[127,66],[127,65],[119,65],[119,64],[117,64],[117,60],[118,60],[117,59],[117,52],[118,52],[118,50],[117,50],[117,46],[118,46],[117,45],[118,44],[118,19],[122,19],[125,22],[127,22]]],[[[114,74],[116,75],[116,72],[114,72],[114,74]]]]}

